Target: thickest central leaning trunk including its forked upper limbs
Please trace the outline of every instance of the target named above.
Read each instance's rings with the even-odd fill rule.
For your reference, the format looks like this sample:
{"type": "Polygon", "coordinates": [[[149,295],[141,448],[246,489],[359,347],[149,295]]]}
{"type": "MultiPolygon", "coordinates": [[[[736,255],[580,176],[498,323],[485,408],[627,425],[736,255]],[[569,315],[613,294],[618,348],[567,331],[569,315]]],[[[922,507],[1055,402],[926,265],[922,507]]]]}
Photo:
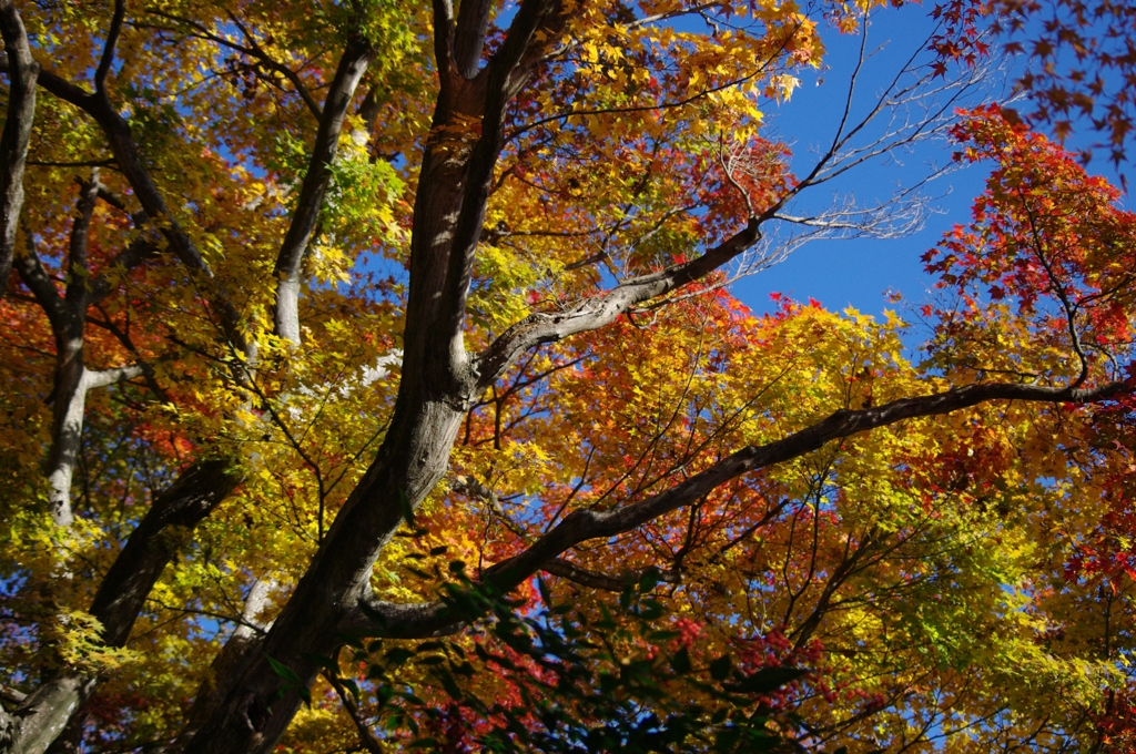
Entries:
{"type": "MultiPolygon", "coordinates": [[[[331,656],[339,648],[335,627],[369,595],[374,563],[402,523],[402,501],[417,506],[446,470],[454,437],[477,396],[461,330],[504,109],[527,75],[526,52],[552,6],[545,0],[524,2],[501,49],[473,82],[452,73],[442,76],[435,126],[457,116],[482,116],[482,131],[465,157],[457,157],[460,152],[446,143],[450,137],[441,128],[434,129],[426,146],[411,231],[403,335],[407,376],[391,426],[261,652],[189,742],[187,753],[267,752],[275,746],[300,697],[290,692],[269,704],[282,681],[265,657],[289,667],[308,684],[315,679],[319,665],[309,657],[331,656]]],[[[446,16],[438,23],[448,26],[451,20],[446,16]]],[[[449,61],[440,68],[451,70],[449,61]]]]}

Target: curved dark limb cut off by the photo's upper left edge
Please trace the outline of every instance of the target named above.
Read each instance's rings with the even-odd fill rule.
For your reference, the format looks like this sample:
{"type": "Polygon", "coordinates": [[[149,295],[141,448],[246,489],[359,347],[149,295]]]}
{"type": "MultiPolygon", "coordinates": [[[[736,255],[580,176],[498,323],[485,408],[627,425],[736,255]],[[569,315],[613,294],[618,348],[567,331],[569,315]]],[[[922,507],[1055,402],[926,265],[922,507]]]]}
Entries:
{"type": "Polygon", "coordinates": [[[19,213],[24,208],[24,166],[35,119],[35,81],[40,64],[32,59],[27,31],[11,0],[0,0],[0,34],[8,56],[8,114],[0,134],[0,298],[3,298],[16,252],[19,213]]]}

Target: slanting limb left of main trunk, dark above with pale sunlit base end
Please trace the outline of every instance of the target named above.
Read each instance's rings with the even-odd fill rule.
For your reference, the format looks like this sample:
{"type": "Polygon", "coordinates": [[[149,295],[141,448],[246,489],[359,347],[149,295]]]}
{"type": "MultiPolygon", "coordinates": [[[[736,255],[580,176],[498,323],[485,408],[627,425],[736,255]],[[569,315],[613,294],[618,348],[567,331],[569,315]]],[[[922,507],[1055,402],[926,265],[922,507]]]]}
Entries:
{"type": "Polygon", "coordinates": [[[300,188],[295,213],[276,257],[276,334],[292,343],[300,342],[300,278],[304,253],[324,207],[324,198],[327,195],[327,186],[332,179],[332,164],[335,161],[340,133],[343,131],[343,118],[351,107],[356,89],[373,55],[370,45],[365,40],[356,39],[348,43],[343,57],[340,58],[339,68],[327,92],[327,100],[324,102],[316,144],[308,162],[303,186],[300,188]]]}

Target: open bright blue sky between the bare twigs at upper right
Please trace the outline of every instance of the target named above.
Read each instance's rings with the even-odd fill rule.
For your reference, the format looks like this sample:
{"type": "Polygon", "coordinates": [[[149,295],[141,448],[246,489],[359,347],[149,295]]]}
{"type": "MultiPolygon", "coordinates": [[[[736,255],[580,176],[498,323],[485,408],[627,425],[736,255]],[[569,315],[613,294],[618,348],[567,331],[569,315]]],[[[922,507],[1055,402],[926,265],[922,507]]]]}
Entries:
{"type": "MultiPolygon", "coordinates": [[[[883,47],[868,61],[858,82],[861,103],[866,104],[908,56],[921,47],[934,28],[927,11],[927,7],[907,6],[887,8],[874,16],[867,47],[883,47]]],[[[793,144],[797,171],[810,162],[810,148],[832,140],[861,40],[832,33],[826,44],[825,68],[802,76],[802,85],[792,100],[775,106],[767,114],[775,133],[793,144]]],[[[810,203],[829,202],[834,192],[842,195],[851,192],[864,203],[886,200],[896,185],[910,184],[926,175],[929,161],[943,164],[949,161],[950,154],[950,145],[938,141],[900,154],[902,165],[878,160],[860,166],[836,183],[815,188],[810,203]]],[[[799,301],[816,299],[832,310],[852,305],[876,315],[885,308],[895,308],[884,295],[887,290],[903,293],[909,303],[919,303],[927,298],[926,291],[934,283],[924,274],[920,255],[935,245],[944,231],[967,220],[970,201],[982,191],[984,177],[983,168],[968,168],[929,185],[926,193],[938,196],[934,201],[937,213],[926,218],[919,233],[893,240],[812,242],[779,265],[740,280],[734,293],[755,311],[771,309],[769,293],[774,291],[799,301]]]]}

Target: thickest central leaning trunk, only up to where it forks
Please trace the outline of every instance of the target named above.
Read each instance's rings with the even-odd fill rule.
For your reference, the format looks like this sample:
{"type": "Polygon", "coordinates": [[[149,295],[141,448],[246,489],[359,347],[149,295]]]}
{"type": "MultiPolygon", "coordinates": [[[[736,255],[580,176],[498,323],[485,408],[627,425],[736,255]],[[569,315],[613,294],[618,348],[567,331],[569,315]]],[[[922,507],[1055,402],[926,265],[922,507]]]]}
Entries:
{"type": "MultiPolygon", "coordinates": [[[[434,123],[450,117],[446,98],[434,123]]],[[[186,754],[270,751],[300,706],[267,657],[310,685],[342,642],[337,627],[370,595],[375,562],[404,519],[442,479],[465,419],[473,380],[454,363],[442,292],[450,274],[454,224],[461,211],[468,151],[432,140],[423,159],[410,250],[410,295],[402,379],[386,437],[362,480],[336,516],[311,566],[265,637],[260,652],[219,679],[229,692],[185,745],[186,754]]],[[[452,304],[452,302],[449,302],[452,304]]]]}

